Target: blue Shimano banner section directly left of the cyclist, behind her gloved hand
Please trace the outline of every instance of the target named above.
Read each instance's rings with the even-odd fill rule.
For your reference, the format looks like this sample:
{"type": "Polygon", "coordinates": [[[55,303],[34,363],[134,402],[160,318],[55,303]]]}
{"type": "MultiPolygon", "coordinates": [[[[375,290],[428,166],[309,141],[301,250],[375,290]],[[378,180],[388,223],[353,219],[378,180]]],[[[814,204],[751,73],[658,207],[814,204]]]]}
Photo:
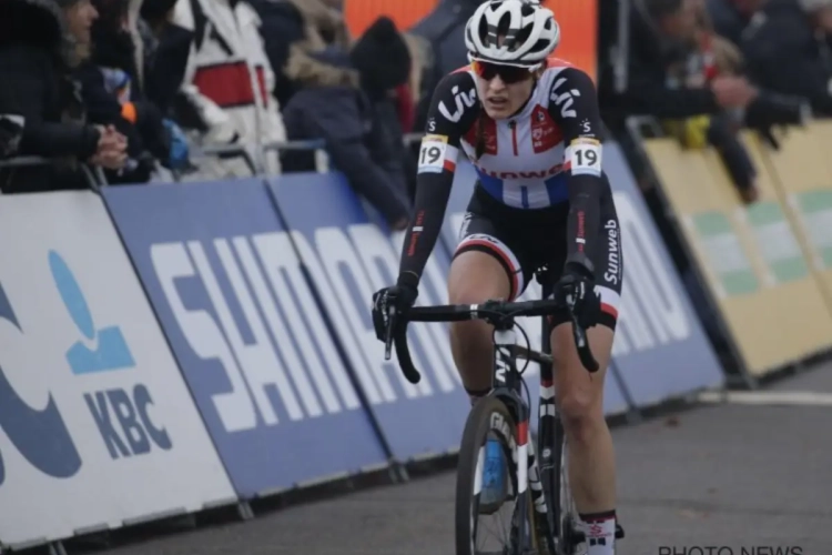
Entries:
{"type": "MultiPolygon", "coordinates": [[[[372,223],[339,174],[286,174],[271,186],[393,454],[406,461],[457,450],[470,404],[450,356],[447,326],[409,325],[410,354],[422,373],[417,385],[402,374],[395,350],[384,360],[384,344],[373,331],[373,293],[395,283],[403,235],[372,223]]],[[[417,305],[447,303],[447,254],[437,249],[417,305]]]]}

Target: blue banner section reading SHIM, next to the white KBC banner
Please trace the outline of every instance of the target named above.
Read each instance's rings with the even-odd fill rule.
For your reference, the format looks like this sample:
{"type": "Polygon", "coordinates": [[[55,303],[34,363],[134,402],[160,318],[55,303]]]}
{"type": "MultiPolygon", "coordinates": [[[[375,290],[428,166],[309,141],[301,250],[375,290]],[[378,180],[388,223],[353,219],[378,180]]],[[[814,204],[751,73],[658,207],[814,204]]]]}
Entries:
{"type": "Polygon", "coordinates": [[[241,496],[386,464],[262,180],[105,193],[241,496]]]}

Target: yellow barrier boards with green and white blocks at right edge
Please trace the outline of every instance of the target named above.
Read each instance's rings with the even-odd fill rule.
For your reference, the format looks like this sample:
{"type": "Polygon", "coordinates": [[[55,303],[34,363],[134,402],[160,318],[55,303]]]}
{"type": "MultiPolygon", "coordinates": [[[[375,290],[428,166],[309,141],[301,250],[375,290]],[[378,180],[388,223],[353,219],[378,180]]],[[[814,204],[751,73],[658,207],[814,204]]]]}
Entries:
{"type": "MultiPolygon", "coordinates": [[[[759,144],[751,152],[760,199],[750,205],[741,202],[714,151],[683,150],[674,139],[648,139],[642,148],[742,370],[761,376],[832,346],[832,315],[779,198],[771,165],[761,163],[759,144]]],[[[810,167],[801,165],[783,182],[797,186],[795,176],[810,167]]]]}

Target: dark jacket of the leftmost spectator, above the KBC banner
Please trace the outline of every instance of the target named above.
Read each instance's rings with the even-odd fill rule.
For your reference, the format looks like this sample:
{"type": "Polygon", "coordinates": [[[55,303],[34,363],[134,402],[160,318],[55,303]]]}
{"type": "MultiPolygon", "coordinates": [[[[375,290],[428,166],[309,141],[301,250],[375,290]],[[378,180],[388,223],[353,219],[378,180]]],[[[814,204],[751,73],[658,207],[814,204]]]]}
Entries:
{"type": "Polygon", "coordinates": [[[0,1],[0,113],[24,120],[18,154],[61,159],[0,170],[3,193],[87,186],[79,162],[94,154],[100,134],[84,123],[61,21],[49,0],[0,1]]]}

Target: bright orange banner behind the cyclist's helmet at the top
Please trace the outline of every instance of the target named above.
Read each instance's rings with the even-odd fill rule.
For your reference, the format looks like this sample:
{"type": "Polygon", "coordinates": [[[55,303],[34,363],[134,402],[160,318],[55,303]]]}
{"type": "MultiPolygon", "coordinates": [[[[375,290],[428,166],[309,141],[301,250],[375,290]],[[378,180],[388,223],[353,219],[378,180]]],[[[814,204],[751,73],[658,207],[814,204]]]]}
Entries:
{"type": "MultiPolygon", "coordinates": [[[[427,16],[438,0],[345,0],[344,14],[354,37],[384,14],[407,30],[427,16]]],[[[596,77],[598,0],[547,0],[544,4],[555,12],[560,24],[560,46],[555,56],[596,77]]],[[[459,37],[463,40],[463,37],[459,37]]]]}

